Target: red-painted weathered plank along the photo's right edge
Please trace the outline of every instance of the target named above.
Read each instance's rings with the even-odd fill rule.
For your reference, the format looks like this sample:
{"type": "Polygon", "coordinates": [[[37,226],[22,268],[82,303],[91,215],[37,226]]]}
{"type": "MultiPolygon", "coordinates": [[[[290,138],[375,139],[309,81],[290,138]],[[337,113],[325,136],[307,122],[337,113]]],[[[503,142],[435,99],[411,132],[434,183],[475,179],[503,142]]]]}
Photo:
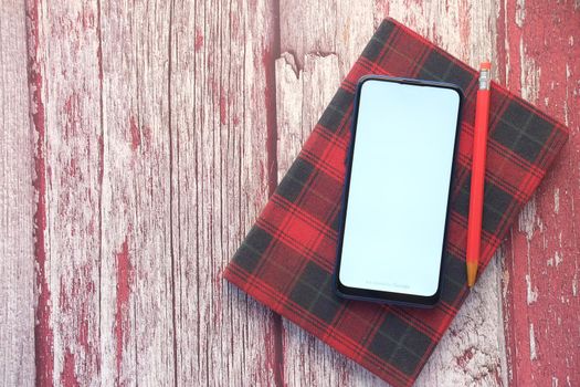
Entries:
{"type": "Polygon", "coordinates": [[[580,9],[506,1],[498,21],[500,77],[559,118],[570,140],[506,247],[504,308],[509,381],[580,384],[580,9]]]}

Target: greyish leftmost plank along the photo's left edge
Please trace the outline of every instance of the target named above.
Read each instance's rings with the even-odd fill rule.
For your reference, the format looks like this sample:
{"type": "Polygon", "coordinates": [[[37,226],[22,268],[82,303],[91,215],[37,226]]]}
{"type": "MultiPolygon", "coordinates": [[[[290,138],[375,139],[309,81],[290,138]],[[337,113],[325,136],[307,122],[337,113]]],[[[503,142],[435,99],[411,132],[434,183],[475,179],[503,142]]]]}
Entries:
{"type": "Polygon", "coordinates": [[[0,385],[34,383],[33,134],[27,17],[0,3],[0,385]]]}

